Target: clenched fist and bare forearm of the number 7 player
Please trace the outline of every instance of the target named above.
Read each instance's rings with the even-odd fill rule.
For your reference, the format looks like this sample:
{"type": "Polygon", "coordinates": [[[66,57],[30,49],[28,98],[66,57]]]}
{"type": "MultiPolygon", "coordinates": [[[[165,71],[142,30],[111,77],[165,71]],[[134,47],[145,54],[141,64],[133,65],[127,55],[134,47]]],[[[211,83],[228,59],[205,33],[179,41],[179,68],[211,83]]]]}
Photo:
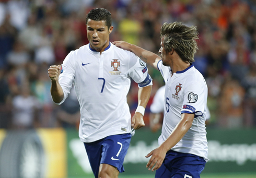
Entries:
{"type": "Polygon", "coordinates": [[[52,80],[51,95],[55,103],[60,103],[64,98],[64,93],[59,84],[59,76],[61,74],[61,65],[53,65],[48,69],[48,75],[52,80]]]}

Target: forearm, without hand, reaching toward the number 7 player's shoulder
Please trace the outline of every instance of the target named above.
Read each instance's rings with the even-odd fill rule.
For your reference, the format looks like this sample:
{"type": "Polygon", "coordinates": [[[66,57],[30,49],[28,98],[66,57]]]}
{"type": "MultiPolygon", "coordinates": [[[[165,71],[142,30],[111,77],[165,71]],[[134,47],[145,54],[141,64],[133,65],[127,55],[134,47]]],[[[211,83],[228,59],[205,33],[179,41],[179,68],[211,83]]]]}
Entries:
{"type": "Polygon", "coordinates": [[[157,69],[157,63],[161,60],[161,58],[157,54],[144,50],[143,48],[140,48],[139,46],[133,44],[131,44],[129,48],[130,51],[139,58],[141,58],[142,61],[157,69]]]}

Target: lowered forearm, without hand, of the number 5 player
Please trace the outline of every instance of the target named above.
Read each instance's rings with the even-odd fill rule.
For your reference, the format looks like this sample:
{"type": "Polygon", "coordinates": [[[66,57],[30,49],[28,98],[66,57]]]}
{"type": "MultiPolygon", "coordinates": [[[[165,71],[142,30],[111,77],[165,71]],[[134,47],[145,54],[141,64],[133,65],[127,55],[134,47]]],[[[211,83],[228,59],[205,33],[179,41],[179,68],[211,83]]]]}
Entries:
{"type": "Polygon", "coordinates": [[[166,152],[174,147],[192,126],[193,118],[193,114],[188,114],[187,117],[183,116],[181,121],[173,129],[171,135],[164,141],[164,143],[161,144],[160,147],[164,148],[166,152]]]}

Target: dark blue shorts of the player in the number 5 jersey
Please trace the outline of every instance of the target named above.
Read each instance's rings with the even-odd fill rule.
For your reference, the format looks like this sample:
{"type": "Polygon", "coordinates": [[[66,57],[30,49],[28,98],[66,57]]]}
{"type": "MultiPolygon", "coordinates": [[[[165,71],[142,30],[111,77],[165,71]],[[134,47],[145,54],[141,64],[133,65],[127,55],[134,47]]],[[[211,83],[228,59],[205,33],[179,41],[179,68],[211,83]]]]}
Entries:
{"type": "Polygon", "coordinates": [[[155,177],[198,178],[205,163],[202,157],[169,150],[161,167],[156,170],[155,177]]]}

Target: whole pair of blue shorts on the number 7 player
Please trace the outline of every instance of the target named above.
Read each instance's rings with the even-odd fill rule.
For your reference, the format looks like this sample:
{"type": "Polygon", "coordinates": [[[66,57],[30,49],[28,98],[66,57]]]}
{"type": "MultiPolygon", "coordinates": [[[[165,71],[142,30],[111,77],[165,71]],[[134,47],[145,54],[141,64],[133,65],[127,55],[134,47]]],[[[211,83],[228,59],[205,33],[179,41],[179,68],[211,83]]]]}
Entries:
{"type": "Polygon", "coordinates": [[[100,164],[110,164],[119,172],[124,172],[123,161],[131,137],[131,134],[111,135],[92,143],[84,143],[95,177],[98,177],[100,164]]]}

